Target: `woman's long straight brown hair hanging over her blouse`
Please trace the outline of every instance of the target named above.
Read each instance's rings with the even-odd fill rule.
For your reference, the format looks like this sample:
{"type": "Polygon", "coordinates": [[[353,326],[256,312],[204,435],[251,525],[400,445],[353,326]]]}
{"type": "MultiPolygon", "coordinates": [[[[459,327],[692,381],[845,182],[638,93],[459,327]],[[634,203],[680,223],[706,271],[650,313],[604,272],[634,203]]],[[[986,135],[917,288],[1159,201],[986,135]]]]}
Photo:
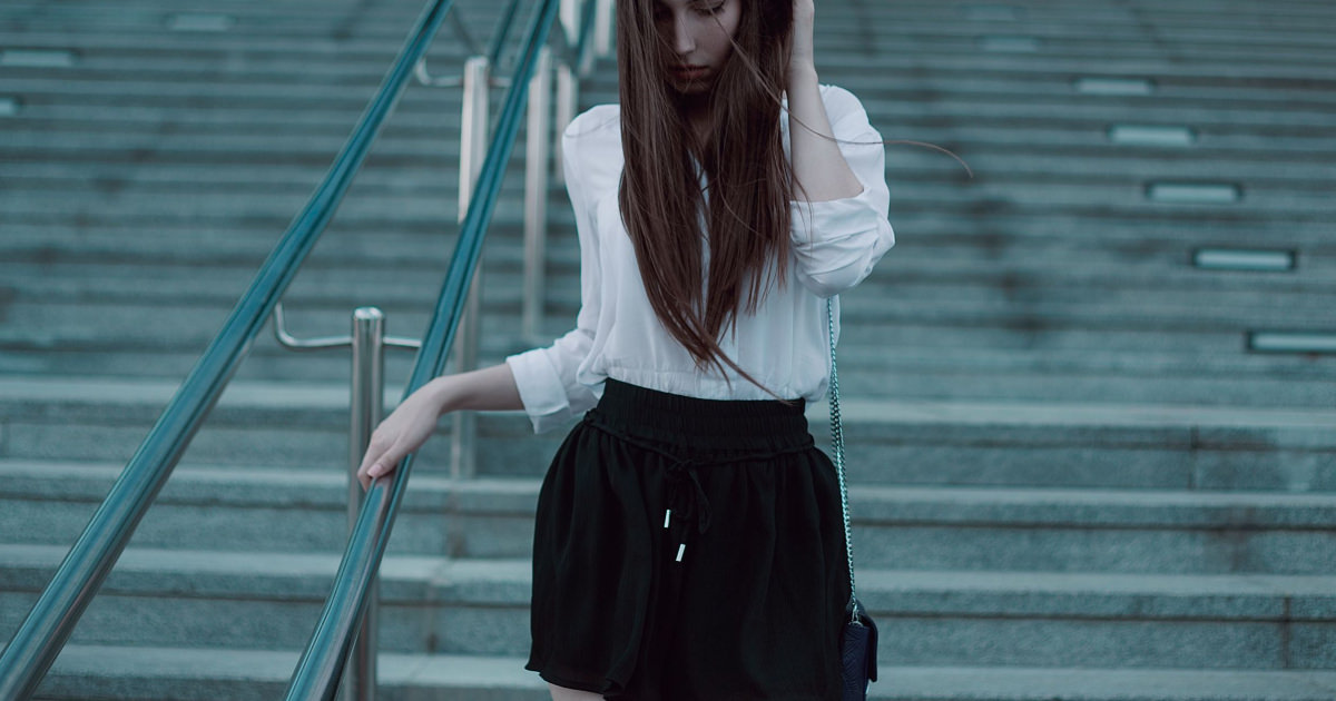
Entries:
{"type": "Polygon", "coordinates": [[[792,0],[740,0],[733,56],[708,95],[711,127],[703,140],[665,80],[672,51],[655,23],[656,1],[617,7],[621,218],[649,304],[667,331],[697,367],[724,374],[728,366],[762,386],[723,353],[719,338],[739,314],[756,311],[771,284],[783,284],[788,266],[794,179],[779,96],[792,44],[792,0]],[[739,60],[737,53],[745,56],[739,60]]]}

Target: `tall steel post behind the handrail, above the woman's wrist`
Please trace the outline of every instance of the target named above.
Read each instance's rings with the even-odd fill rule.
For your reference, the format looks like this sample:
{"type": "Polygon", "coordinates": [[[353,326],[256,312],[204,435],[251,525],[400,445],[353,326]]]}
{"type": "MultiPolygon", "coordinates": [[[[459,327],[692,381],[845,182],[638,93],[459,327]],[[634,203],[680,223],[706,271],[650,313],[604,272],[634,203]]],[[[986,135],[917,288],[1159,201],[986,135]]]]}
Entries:
{"type": "MultiPolygon", "coordinates": [[[[488,154],[488,87],[490,67],[486,56],[474,56],[464,64],[464,122],[460,135],[460,222],[468,214],[473,186],[488,154]]],[[[478,366],[478,336],[482,327],[482,264],[473,271],[469,299],[456,335],[454,371],[465,373],[478,366]]],[[[454,477],[476,473],[477,417],[472,411],[452,414],[450,471],[454,477]]]]}

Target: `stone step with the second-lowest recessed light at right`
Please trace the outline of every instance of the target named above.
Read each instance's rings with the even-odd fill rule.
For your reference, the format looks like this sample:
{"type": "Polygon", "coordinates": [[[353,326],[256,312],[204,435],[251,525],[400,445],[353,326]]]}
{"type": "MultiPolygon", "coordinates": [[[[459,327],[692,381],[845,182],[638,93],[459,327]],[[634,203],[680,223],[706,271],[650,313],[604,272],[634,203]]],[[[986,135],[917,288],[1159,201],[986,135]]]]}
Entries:
{"type": "MultiPolygon", "coordinates": [[[[562,195],[564,196],[564,195],[562,195]]],[[[564,204],[549,206],[548,267],[565,275],[577,271],[578,252],[573,222],[564,204]]],[[[1272,222],[1265,242],[1257,231],[1268,231],[1259,222],[1249,238],[1244,226],[1220,224],[1210,232],[1181,231],[1165,226],[1137,228],[1133,223],[1108,223],[1098,227],[1098,236],[1073,231],[1061,236],[1055,227],[1039,220],[1026,222],[1017,215],[999,216],[998,230],[975,230],[959,223],[946,223],[926,214],[896,215],[896,247],[878,263],[872,279],[953,279],[1001,280],[1009,284],[1043,280],[1070,280],[1081,284],[1104,284],[1105,280],[1129,279],[1137,286],[1156,282],[1176,287],[1237,286],[1236,288],[1297,288],[1308,280],[1325,284],[1336,270],[1336,247],[1320,240],[1320,227],[1272,222]],[[1284,274],[1213,271],[1190,267],[1197,248],[1295,251],[1296,268],[1284,274]],[[1051,262],[1061,260],[1061,266],[1051,262]],[[1293,280],[1293,282],[1291,282],[1293,280]]],[[[1066,219],[1070,226],[1090,228],[1089,223],[1066,219]]],[[[273,227],[222,227],[200,223],[102,222],[84,224],[7,223],[0,240],[0,258],[13,264],[75,266],[68,270],[98,270],[110,266],[130,270],[139,266],[187,266],[192,268],[235,270],[254,275],[277,243],[285,224],[273,227]],[[92,266],[92,267],[88,267],[92,266]]],[[[335,220],[322,236],[303,268],[349,267],[374,270],[383,267],[426,266],[444,270],[456,228],[428,223],[394,228],[361,227],[335,220]],[[417,262],[418,266],[413,266],[417,262]]],[[[484,260],[514,266],[520,260],[521,232],[518,220],[498,212],[489,228],[489,246],[484,260]]]]}

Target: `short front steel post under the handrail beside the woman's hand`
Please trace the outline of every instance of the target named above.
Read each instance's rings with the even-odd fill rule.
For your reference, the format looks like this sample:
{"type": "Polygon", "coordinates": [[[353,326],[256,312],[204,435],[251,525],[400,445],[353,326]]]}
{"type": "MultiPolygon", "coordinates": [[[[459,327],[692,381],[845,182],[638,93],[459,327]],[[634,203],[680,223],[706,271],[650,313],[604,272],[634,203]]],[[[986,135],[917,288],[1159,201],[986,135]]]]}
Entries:
{"type": "MultiPolygon", "coordinates": [[[[347,527],[357,523],[362,505],[362,485],[357,469],[362,463],[371,431],[385,413],[385,314],[375,307],[353,311],[353,418],[349,430],[347,527]]],[[[362,617],[357,642],[349,656],[339,685],[342,701],[375,701],[377,618],[379,579],[371,581],[371,593],[362,617]]]]}

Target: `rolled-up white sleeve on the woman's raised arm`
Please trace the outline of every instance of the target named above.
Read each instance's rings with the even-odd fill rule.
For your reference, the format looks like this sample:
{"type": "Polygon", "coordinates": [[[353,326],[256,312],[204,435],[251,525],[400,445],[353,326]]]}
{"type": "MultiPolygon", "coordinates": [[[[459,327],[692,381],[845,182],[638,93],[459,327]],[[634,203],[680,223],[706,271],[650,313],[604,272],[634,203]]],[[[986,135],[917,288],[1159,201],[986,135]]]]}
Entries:
{"type": "Polygon", "coordinates": [[[798,280],[822,298],[863,282],[895,244],[890,223],[882,135],[848,91],[828,88],[824,100],[831,131],[863,191],[830,202],[792,202],[792,255],[798,280]]]}

